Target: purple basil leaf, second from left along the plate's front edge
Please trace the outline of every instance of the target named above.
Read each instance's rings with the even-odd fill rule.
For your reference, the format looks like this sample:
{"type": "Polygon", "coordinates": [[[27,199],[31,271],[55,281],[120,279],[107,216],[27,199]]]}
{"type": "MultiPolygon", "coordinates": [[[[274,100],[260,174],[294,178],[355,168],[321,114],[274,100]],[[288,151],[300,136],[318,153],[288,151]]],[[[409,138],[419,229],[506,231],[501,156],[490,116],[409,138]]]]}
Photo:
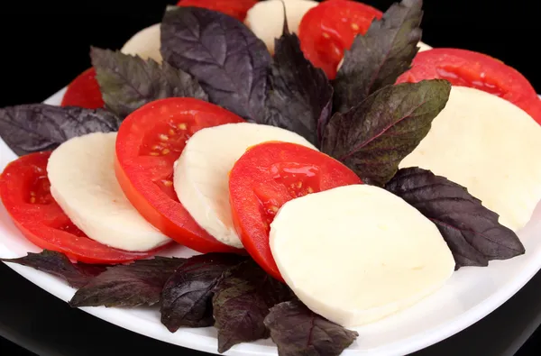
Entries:
{"type": "Polygon", "coordinates": [[[166,280],[185,259],[155,257],[109,267],[80,288],[69,301],[79,306],[152,306],[160,302],[166,280]]]}

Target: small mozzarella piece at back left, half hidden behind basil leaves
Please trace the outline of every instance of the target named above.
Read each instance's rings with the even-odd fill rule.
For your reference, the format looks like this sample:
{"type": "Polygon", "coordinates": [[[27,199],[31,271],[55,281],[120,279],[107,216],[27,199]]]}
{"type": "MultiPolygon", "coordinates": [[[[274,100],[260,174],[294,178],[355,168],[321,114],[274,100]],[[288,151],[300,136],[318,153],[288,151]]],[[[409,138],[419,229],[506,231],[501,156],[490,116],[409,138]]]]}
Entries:
{"type": "Polygon", "coordinates": [[[160,23],[156,23],[137,32],[120,50],[124,54],[137,55],[142,59],[163,60],[160,53],[160,23]]]}

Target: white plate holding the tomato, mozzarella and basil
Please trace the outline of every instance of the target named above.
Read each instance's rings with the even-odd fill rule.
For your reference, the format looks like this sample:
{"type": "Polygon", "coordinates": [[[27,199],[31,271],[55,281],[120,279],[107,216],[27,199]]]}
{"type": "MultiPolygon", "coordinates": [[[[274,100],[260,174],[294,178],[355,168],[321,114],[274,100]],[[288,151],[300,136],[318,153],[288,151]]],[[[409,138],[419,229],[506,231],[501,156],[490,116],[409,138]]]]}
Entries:
{"type": "MultiPolygon", "coordinates": [[[[64,89],[51,96],[46,103],[59,105],[64,89]]],[[[0,170],[15,159],[4,141],[0,140],[0,170]]],[[[497,193],[497,192],[495,192],[497,193]]],[[[527,226],[518,233],[526,247],[526,254],[512,260],[491,261],[487,268],[465,267],[456,271],[444,288],[427,297],[416,306],[374,324],[356,329],[359,338],[345,355],[404,355],[423,349],[458,333],[512,297],[541,269],[541,204],[527,226]]],[[[40,251],[24,239],[14,227],[4,206],[0,207],[0,256],[19,257],[26,252],[40,251]]],[[[185,257],[193,254],[186,248],[176,247],[163,255],[185,257]]],[[[8,264],[52,295],[68,301],[75,289],[38,270],[8,264]]],[[[156,308],[120,309],[105,307],[81,308],[91,315],[164,342],[200,351],[217,353],[216,332],[212,327],[180,329],[170,333],[160,324],[156,308]]],[[[271,340],[243,343],[234,346],[226,355],[276,355],[271,340]]]]}

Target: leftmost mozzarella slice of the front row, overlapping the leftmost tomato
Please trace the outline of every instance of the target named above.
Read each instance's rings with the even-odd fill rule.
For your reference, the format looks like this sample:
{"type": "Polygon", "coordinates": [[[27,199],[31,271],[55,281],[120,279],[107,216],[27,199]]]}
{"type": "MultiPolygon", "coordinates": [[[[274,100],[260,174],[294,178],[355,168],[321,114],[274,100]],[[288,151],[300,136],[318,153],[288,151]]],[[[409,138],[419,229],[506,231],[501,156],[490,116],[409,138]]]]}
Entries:
{"type": "Polygon", "coordinates": [[[90,133],[60,145],[50,155],[50,193],[73,224],[97,242],[149,251],[170,239],[147,223],[115,178],[116,132],[90,133]]]}

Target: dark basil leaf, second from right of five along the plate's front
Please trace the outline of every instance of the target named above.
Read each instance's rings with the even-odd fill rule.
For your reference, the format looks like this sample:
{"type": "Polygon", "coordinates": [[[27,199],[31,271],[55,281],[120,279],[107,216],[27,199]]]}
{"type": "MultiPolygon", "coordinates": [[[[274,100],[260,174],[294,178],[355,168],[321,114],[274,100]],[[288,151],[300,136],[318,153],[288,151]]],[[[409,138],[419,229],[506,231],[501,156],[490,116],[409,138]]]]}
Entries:
{"type": "Polygon", "coordinates": [[[272,278],[253,260],[226,271],[214,292],[212,305],[220,353],[240,342],[268,338],[263,320],[269,309],[295,297],[288,286],[272,278]]]}

